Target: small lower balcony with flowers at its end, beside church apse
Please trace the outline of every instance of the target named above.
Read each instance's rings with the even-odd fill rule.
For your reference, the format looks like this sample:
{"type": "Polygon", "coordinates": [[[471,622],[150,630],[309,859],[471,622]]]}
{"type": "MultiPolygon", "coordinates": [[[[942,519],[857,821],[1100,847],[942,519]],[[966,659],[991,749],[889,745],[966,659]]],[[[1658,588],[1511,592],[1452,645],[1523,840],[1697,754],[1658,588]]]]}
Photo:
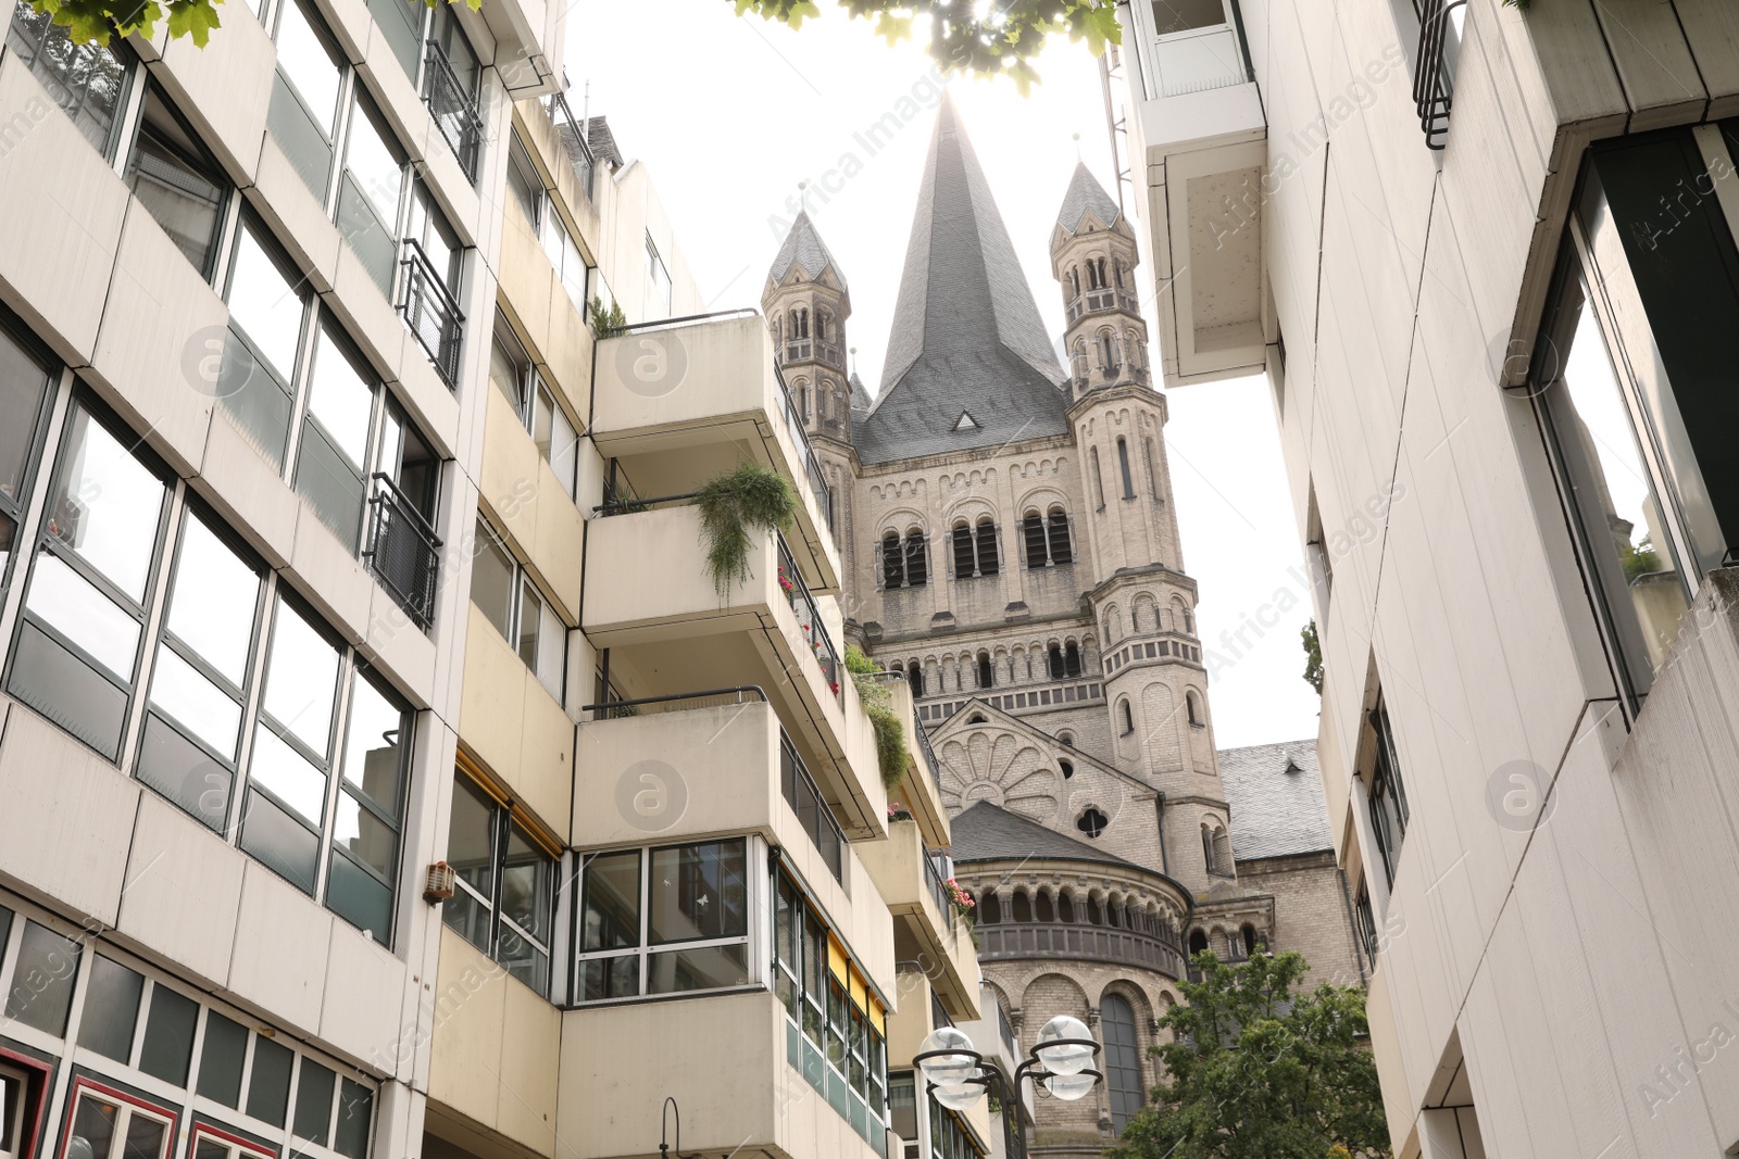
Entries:
{"type": "Polygon", "coordinates": [[[859,846],[857,857],[894,916],[894,956],[918,963],[956,1022],[977,1018],[979,957],[972,931],[949,905],[918,824],[890,824],[887,841],[859,846]]]}

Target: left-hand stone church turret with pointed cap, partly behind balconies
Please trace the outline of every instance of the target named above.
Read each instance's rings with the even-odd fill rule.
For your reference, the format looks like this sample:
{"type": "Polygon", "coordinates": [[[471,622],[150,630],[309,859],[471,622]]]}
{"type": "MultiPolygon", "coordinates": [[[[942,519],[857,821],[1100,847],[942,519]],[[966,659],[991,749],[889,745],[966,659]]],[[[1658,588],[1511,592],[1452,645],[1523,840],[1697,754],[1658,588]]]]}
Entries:
{"type": "Polygon", "coordinates": [[[831,490],[828,520],[847,570],[856,558],[852,535],[852,408],[863,387],[849,379],[845,320],[852,295],[845,273],[800,212],[767,269],[762,313],[772,330],[774,353],[831,490]]]}

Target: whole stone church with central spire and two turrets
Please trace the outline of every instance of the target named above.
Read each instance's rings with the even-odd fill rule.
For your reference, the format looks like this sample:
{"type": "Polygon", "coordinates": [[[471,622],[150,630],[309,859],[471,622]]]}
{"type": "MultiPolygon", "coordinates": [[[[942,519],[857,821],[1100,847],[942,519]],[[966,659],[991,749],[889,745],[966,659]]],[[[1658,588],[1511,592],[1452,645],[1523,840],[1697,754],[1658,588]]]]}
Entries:
{"type": "Polygon", "coordinates": [[[1363,966],[1315,742],[1216,751],[1136,233],[1085,165],[1050,259],[1066,365],[944,99],[875,396],[807,215],[762,304],[833,488],[845,634],[904,674],[943,765],[984,977],[1023,1051],[1059,1013],[1104,1044],[1094,1096],[1036,1100],[1033,1145],[1096,1156],[1158,1079],[1193,949],[1363,966]]]}

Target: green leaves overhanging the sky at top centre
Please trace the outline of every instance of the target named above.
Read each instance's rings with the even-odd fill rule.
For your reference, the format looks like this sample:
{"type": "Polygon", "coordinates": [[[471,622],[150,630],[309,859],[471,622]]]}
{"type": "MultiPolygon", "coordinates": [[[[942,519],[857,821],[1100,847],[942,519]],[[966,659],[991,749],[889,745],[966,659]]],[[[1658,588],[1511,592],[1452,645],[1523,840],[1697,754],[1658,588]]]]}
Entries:
{"type": "MultiPolygon", "coordinates": [[[[730,0],[737,14],[756,12],[770,21],[802,28],[821,16],[814,0],[730,0]]],[[[875,24],[889,43],[929,24],[930,56],[944,71],[1007,73],[1023,89],[1038,80],[1031,59],[1054,35],[1085,40],[1094,56],[1106,43],[1122,43],[1115,0],[998,0],[979,5],[965,0],[838,0],[854,17],[875,24]]]]}

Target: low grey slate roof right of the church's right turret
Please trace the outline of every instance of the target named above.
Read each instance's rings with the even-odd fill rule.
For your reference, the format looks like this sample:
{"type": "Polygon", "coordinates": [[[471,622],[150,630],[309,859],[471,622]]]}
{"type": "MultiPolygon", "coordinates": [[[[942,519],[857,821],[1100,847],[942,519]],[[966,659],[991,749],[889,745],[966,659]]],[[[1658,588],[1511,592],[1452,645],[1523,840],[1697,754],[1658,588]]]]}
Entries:
{"type": "Polygon", "coordinates": [[[1231,805],[1231,855],[1245,862],[1334,848],[1316,772],[1316,742],[1289,740],[1219,751],[1231,805]],[[1294,772],[1287,772],[1287,768],[1294,772]]]}

